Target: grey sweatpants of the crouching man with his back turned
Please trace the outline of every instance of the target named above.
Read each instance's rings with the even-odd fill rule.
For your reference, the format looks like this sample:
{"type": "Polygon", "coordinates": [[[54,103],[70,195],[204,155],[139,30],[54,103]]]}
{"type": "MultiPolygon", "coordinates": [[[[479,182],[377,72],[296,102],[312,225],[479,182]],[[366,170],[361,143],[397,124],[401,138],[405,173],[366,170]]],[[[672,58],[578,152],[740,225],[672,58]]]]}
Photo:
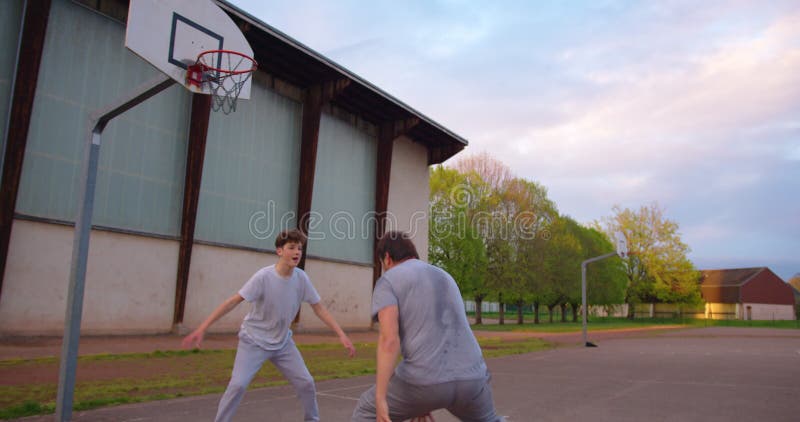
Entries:
{"type": "MultiPolygon", "coordinates": [[[[433,385],[413,385],[396,376],[389,380],[386,393],[389,417],[405,421],[436,409],[447,409],[462,421],[502,421],[494,410],[489,376],[478,380],[451,381],[433,385]]],[[[361,395],[352,422],[374,421],[375,386],[361,395]]]]}

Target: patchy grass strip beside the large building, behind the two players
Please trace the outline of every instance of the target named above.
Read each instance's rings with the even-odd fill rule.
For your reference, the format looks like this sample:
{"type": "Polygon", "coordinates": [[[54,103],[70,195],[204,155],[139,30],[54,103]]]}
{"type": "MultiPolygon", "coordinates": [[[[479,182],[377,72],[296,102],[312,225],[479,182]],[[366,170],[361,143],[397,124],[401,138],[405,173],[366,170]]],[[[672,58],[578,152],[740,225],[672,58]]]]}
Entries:
{"type": "MultiPolygon", "coordinates": [[[[509,341],[481,339],[487,358],[528,353],[549,345],[539,339],[509,341]]],[[[338,344],[300,345],[309,371],[317,381],[351,378],[375,373],[375,344],[356,345],[358,353],[348,359],[338,344]]],[[[156,351],[81,356],[74,409],[164,400],[220,393],[230,379],[235,350],[156,351]],[[91,374],[103,374],[103,376],[91,374]]],[[[0,360],[0,419],[53,413],[58,389],[58,359],[0,360]],[[50,378],[51,381],[29,382],[50,378]],[[23,380],[12,383],[9,380],[23,380]]],[[[266,364],[250,388],[286,384],[274,366],[266,364]]]]}

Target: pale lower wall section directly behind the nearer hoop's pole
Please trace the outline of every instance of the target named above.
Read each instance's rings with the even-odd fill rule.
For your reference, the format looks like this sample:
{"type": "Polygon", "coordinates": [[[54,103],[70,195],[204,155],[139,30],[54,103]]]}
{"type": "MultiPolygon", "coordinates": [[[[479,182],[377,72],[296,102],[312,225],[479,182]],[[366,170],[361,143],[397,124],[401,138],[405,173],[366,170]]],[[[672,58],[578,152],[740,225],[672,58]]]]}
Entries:
{"type": "MultiPolygon", "coordinates": [[[[0,334],[60,335],[74,229],[14,220],[0,334]]],[[[83,334],[164,333],[172,325],[178,242],[92,231],[83,334]]]]}

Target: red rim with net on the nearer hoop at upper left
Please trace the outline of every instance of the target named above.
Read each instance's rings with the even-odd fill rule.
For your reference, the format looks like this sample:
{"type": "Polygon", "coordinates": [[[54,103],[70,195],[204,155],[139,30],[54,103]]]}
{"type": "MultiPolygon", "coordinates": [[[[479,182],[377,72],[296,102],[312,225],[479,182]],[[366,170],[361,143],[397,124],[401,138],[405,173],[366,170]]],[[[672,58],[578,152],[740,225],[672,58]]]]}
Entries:
{"type": "Polygon", "coordinates": [[[208,50],[186,68],[186,84],[198,89],[207,88],[214,101],[214,111],[225,114],[236,111],[236,100],[242,87],[258,68],[252,57],[231,50],[208,50]]]}

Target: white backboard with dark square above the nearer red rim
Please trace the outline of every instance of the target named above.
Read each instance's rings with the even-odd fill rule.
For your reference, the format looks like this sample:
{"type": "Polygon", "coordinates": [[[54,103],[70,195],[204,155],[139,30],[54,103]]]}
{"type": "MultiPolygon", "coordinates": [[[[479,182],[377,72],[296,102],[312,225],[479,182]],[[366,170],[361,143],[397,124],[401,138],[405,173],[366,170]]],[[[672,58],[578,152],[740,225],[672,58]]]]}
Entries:
{"type": "MultiPolygon", "coordinates": [[[[211,94],[208,84],[187,82],[187,67],[209,50],[253,57],[253,49],[231,18],[211,0],[131,0],[125,46],[186,89],[211,94]]],[[[214,67],[224,68],[222,55],[214,67]]],[[[239,98],[250,98],[250,79],[239,98]]]]}

